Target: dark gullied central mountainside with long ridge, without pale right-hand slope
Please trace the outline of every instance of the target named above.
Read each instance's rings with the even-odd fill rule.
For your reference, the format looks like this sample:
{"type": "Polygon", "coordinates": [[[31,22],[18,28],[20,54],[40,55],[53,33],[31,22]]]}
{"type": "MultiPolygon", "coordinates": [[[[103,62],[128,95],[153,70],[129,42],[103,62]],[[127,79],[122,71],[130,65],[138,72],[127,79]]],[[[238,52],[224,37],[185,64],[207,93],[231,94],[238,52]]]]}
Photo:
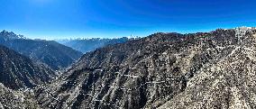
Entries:
{"type": "Polygon", "coordinates": [[[255,30],[160,32],[106,46],[86,53],[36,98],[48,108],[169,108],[201,70],[233,55],[235,46],[250,46],[255,30]]]}

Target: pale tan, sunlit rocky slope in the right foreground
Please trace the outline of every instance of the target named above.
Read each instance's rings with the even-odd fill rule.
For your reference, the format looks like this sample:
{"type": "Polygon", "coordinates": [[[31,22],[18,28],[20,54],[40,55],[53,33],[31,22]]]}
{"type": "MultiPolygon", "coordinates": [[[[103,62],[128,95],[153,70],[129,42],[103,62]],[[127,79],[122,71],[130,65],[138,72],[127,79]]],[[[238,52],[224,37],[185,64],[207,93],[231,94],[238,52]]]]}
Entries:
{"type": "Polygon", "coordinates": [[[225,51],[226,55],[198,70],[187,81],[186,90],[160,108],[255,108],[256,31],[240,28],[235,36],[235,44],[209,48],[210,53],[225,51]]]}

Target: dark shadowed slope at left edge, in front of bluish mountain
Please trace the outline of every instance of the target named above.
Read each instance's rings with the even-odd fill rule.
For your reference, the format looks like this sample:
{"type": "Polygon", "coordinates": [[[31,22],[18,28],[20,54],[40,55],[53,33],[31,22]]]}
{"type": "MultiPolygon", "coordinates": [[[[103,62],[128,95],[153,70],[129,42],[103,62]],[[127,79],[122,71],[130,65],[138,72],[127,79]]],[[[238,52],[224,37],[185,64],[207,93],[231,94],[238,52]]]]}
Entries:
{"type": "Polygon", "coordinates": [[[12,89],[33,87],[47,83],[56,73],[50,68],[0,46],[0,83],[12,89]]]}

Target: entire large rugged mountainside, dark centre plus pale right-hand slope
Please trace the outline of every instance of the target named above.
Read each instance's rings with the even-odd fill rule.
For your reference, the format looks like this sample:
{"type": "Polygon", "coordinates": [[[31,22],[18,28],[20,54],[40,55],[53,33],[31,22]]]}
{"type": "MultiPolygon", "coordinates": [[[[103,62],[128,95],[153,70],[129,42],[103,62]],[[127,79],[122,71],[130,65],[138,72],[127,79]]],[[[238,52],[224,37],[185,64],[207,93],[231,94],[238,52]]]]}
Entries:
{"type": "Polygon", "coordinates": [[[255,33],[156,33],[107,46],[36,89],[36,98],[44,108],[253,107],[255,33]]]}

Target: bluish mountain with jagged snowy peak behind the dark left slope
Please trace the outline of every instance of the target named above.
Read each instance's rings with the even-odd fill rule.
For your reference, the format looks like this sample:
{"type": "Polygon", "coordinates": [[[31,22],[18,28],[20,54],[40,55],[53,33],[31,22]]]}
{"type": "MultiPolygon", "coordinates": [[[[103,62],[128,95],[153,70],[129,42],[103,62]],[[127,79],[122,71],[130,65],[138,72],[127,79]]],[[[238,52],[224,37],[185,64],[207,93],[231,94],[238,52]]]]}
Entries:
{"type": "Polygon", "coordinates": [[[0,44],[34,61],[44,63],[54,70],[69,67],[82,56],[78,50],[73,50],[56,41],[30,40],[14,32],[0,32],[0,44]]]}

